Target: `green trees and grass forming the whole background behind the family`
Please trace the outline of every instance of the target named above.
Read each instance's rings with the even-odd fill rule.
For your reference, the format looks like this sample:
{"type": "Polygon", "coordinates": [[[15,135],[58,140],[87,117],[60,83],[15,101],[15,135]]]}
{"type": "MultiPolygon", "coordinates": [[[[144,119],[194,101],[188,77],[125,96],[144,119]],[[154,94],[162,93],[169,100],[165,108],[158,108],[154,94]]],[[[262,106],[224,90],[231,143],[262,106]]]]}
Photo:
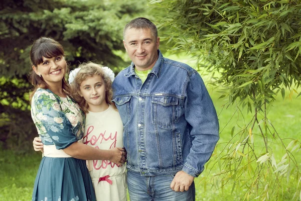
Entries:
{"type": "Polygon", "coordinates": [[[221,139],[195,180],[197,200],[300,199],[301,108],[295,98],[301,6],[296,0],[1,2],[0,199],[29,199],[40,160],[32,150],[37,132],[28,103],[33,41],[58,40],[70,69],[94,61],[117,73],[129,64],[123,27],[139,16],[160,28],[165,56],[200,71],[219,114],[221,139]]]}

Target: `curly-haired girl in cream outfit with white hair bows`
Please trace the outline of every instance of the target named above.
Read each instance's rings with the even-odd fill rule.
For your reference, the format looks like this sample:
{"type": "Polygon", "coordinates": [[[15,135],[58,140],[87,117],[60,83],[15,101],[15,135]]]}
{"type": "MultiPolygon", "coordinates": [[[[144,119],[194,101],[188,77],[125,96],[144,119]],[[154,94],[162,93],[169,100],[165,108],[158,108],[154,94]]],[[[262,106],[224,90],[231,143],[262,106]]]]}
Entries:
{"type": "MultiPolygon", "coordinates": [[[[92,62],[81,64],[69,76],[73,97],[86,114],[83,143],[99,149],[123,146],[122,121],[111,102],[113,79],[112,70],[92,62]]],[[[88,160],[87,167],[97,200],[126,200],[125,165],[88,160]]]]}

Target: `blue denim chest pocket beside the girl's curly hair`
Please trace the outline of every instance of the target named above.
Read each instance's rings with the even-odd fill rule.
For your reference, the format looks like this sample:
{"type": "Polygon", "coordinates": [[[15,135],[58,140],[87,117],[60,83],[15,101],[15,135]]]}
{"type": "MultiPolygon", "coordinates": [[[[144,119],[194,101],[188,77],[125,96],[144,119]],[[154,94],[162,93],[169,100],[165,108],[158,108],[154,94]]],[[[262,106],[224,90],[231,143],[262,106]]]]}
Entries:
{"type": "Polygon", "coordinates": [[[123,114],[123,115],[120,115],[123,126],[126,123],[128,123],[128,120],[130,117],[130,111],[131,111],[130,103],[129,103],[130,98],[131,98],[131,96],[129,95],[129,96],[117,96],[112,99],[112,102],[115,103],[115,105],[118,109],[118,112],[120,114],[123,114]]]}

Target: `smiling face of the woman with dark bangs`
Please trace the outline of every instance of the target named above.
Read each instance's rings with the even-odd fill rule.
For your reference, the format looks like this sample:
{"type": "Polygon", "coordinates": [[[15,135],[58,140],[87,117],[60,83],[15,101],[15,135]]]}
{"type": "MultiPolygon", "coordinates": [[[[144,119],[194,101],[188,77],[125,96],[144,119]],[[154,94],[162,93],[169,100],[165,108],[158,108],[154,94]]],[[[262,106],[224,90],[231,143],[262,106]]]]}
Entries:
{"type": "Polygon", "coordinates": [[[37,75],[41,75],[49,86],[62,84],[62,79],[67,71],[67,63],[63,55],[46,58],[42,57],[43,62],[37,67],[33,66],[37,75]]]}

